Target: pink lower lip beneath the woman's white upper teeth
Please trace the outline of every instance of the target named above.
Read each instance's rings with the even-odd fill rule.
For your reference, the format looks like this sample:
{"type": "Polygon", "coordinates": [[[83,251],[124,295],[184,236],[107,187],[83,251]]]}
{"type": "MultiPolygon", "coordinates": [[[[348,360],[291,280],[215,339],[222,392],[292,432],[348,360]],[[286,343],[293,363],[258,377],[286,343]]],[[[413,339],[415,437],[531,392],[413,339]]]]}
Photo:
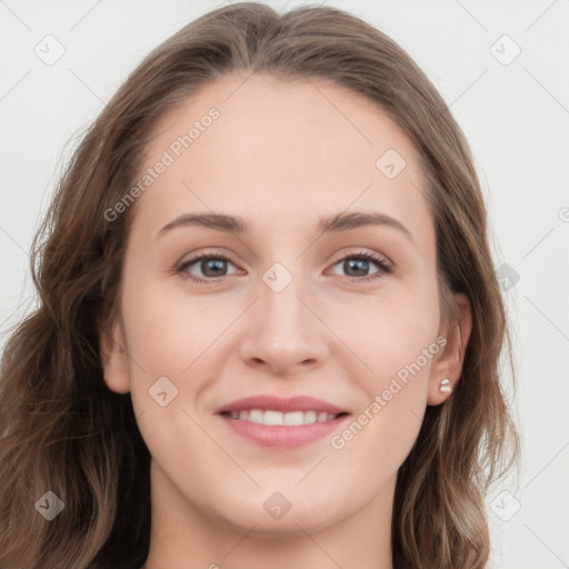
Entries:
{"type": "Polygon", "coordinates": [[[313,442],[333,432],[348,419],[348,415],[337,419],[310,425],[282,425],[269,426],[251,421],[232,419],[224,415],[220,416],[227,425],[238,435],[244,437],[261,447],[291,449],[313,442]]]}

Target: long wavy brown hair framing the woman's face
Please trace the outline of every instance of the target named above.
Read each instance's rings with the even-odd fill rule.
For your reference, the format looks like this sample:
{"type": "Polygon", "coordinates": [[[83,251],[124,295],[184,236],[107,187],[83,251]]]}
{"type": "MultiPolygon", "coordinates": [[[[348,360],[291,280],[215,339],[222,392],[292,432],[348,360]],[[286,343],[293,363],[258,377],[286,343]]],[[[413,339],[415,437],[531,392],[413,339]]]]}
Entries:
{"type": "Polygon", "coordinates": [[[512,463],[518,438],[499,379],[507,318],[468,143],[432,83],[382,32],[335,8],[279,14],[251,2],[210,11],[152,51],[67,164],[32,246],[39,307],[2,358],[0,567],[137,568],[147,557],[150,456],[130,395],[106,387],[99,356],[134,208],[112,220],[104,211],[133,183],[160,118],[236,70],[332,80],[377,103],[418,150],[441,307],[455,318],[452,292],[466,293],[472,331],[456,391],[427,408],[398,473],[393,559],[396,567],[482,568],[483,497],[512,463]],[[64,503],[49,522],[34,507],[47,491],[64,503]]]}

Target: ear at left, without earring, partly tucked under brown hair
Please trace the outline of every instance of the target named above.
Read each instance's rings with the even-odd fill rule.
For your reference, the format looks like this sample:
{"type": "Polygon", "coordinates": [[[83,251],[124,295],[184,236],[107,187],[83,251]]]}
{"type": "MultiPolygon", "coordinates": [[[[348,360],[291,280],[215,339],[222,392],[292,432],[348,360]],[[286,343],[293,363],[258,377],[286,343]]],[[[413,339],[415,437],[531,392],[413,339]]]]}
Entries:
{"type": "Polygon", "coordinates": [[[99,335],[99,353],[107,387],[117,393],[130,391],[130,377],[124,350],[124,338],[120,322],[102,328],[99,335]]]}

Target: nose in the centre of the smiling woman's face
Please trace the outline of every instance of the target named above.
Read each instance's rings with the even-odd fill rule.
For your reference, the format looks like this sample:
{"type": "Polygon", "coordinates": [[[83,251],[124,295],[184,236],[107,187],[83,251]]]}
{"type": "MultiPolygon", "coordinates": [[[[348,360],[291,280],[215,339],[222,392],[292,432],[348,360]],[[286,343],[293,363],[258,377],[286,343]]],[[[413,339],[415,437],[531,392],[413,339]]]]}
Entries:
{"type": "Polygon", "coordinates": [[[259,283],[260,298],[247,311],[240,346],[247,366],[289,377],[306,373],[328,357],[327,327],[316,303],[297,286],[298,280],[292,279],[280,292],[259,283]]]}

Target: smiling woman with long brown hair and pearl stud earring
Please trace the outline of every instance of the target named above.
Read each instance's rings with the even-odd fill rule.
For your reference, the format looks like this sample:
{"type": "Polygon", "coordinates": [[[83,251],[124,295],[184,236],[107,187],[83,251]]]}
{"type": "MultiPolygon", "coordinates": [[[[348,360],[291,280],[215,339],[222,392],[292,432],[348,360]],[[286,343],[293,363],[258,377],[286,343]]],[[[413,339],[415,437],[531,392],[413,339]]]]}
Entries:
{"type": "Polygon", "coordinates": [[[486,222],[459,127],[371,26],[243,2],[181,29],[36,238],[0,567],[485,567],[518,446],[486,222]]]}

